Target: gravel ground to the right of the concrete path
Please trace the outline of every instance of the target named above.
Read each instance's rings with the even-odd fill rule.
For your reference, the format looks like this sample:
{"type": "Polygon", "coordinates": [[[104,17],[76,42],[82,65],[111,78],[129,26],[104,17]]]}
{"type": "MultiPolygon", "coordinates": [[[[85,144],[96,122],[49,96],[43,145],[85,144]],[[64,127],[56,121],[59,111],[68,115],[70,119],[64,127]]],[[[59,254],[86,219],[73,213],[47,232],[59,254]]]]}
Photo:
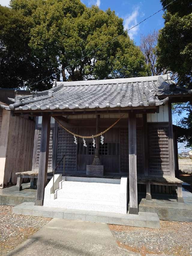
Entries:
{"type": "Polygon", "coordinates": [[[192,222],[160,221],[160,229],[109,225],[118,245],[129,251],[161,255],[192,255],[192,222]]]}

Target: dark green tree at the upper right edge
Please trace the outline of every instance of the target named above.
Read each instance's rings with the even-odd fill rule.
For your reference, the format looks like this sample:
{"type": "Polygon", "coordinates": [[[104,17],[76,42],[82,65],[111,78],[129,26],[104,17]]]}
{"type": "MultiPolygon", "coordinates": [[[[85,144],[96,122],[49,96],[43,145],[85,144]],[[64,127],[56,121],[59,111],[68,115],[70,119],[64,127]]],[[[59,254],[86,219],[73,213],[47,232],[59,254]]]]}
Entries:
{"type": "MultiPolygon", "coordinates": [[[[172,0],[161,0],[163,7],[172,0]]],[[[157,45],[158,65],[178,74],[180,86],[192,88],[192,4],[177,0],[166,7],[157,45]]]]}

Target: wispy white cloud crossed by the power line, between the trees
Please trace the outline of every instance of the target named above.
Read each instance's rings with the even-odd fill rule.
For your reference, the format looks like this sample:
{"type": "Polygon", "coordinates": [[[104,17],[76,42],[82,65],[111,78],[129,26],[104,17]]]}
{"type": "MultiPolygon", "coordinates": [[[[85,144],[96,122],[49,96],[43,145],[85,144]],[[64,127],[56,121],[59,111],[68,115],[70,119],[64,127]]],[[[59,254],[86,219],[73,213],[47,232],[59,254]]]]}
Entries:
{"type": "MultiPolygon", "coordinates": [[[[139,16],[139,7],[136,7],[135,10],[131,13],[128,14],[127,17],[124,20],[124,27],[125,29],[130,29],[133,26],[135,26],[137,22],[137,18],[139,16]]],[[[134,39],[134,36],[137,35],[137,32],[139,30],[139,26],[134,27],[133,29],[128,31],[128,34],[131,39],[134,39]]]]}

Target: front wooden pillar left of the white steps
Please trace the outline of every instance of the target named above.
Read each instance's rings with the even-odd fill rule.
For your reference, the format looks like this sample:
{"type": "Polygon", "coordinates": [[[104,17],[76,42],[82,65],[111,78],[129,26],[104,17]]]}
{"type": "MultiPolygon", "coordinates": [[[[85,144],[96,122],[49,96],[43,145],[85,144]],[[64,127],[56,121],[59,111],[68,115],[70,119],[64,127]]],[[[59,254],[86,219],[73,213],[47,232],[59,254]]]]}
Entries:
{"type": "Polygon", "coordinates": [[[39,173],[38,173],[38,183],[37,183],[37,197],[35,201],[35,205],[41,205],[41,206],[43,205],[44,190],[47,182],[50,121],[51,121],[51,117],[48,114],[44,114],[42,117],[39,173]]]}

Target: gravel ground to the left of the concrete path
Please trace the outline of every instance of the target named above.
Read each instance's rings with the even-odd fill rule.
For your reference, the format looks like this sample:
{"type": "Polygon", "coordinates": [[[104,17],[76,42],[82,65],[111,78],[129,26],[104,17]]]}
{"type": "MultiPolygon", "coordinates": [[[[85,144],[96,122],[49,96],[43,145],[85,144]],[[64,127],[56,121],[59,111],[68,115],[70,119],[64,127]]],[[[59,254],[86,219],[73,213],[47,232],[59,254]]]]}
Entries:
{"type": "Polygon", "coordinates": [[[12,208],[0,205],[0,255],[6,255],[51,220],[14,214],[12,208]]]}

